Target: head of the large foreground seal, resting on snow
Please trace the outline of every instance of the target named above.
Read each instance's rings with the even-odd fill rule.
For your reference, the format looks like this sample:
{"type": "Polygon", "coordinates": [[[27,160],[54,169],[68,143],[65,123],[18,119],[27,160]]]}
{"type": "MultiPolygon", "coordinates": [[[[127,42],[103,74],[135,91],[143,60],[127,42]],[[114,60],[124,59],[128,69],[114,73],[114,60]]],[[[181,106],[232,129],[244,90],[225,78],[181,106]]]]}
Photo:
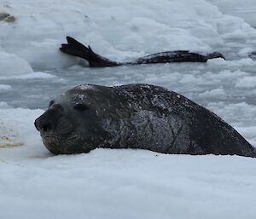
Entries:
{"type": "Polygon", "coordinates": [[[36,119],[35,126],[51,153],[90,152],[95,148],[95,136],[104,136],[96,126],[96,108],[90,96],[95,91],[90,89],[95,88],[81,85],[68,90],[49,101],[48,110],[36,119]]]}

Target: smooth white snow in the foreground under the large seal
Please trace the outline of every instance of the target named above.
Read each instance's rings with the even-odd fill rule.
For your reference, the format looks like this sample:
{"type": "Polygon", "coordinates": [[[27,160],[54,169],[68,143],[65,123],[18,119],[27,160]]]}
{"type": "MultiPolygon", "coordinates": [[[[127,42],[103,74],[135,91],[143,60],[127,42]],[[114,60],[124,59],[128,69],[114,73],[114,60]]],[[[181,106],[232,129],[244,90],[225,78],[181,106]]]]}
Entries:
{"type": "MultiPolygon", "coordinates": [[[[255,217],[253,158],[132,149],[53,156],[33,126],[43,112],[0,109],[1,218],[255,217]]],[[[255,127],[242,131],[255,137],[255,127]]]]}

